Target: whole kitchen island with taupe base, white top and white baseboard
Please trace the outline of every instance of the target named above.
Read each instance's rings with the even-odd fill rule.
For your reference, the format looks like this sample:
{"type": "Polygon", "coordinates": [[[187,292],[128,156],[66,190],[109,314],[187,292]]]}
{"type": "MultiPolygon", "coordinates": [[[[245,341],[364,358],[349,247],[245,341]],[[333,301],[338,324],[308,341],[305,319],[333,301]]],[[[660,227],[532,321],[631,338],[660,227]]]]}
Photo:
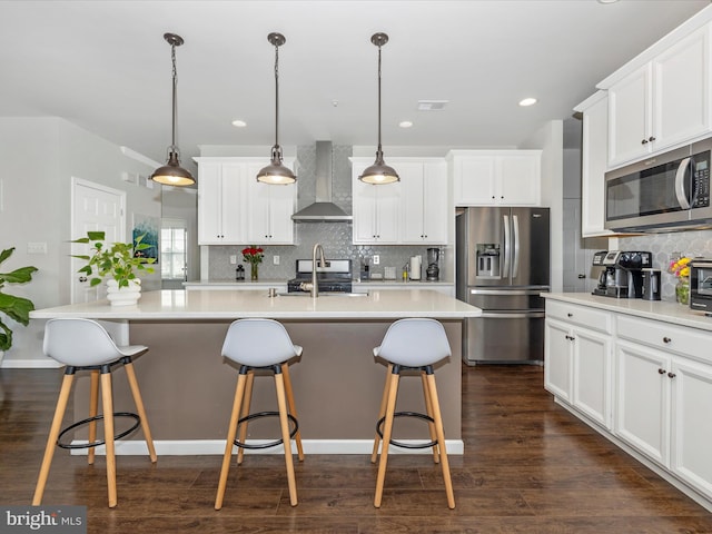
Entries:
{"type": "MultiPolygon", "coordinates": [[[[299,427],[307,453],[369,454],[385,380],[374,359],[388,326],[403,317],[431,317],[447,333],[452,356],[436,366],[448,452],[462,454],[462,322],[482,312],[435,290],[374,290],[366,295],[269,297],[260,290],[160,290],[137,306],[107,300],[32,312],[36,319],[85,317],[102,320],[119,343],[144,344],[136,360],[154,439],[159,454],[221,454],[235,394],[237,369],[220,356],[229,324],[265,317],[285,325],[304,347],[290,366],[299,427]]],[[[255,339],[259,344],[259,339],[255,339]]],[[[121,369],[118,373],[122,373],[121,369]]],[[[263,378],[258,378],[263,380],[263,378]]],[[[274,409],[271,378],[257,382],[253,411],[274,409]]],[[[78,379],[75,419],[86,416],[88,378],[78,379]]],[[[115,379],[117,409],[130,409],[125,380],[115,379]]],[[[404,379],[403,409],[424,412],[419,379],[404,379]]],[[[400,425],[400,423],[399,423],[400,425]]],[[[250,425],[251,439],[274,437],[266,423],[250,425]]],[[[422,423],[404,422],[399,437],[427,435],[422,423]]],[[[140,434],[117,444],[117,454],[142,453],[140,434]]]]}

